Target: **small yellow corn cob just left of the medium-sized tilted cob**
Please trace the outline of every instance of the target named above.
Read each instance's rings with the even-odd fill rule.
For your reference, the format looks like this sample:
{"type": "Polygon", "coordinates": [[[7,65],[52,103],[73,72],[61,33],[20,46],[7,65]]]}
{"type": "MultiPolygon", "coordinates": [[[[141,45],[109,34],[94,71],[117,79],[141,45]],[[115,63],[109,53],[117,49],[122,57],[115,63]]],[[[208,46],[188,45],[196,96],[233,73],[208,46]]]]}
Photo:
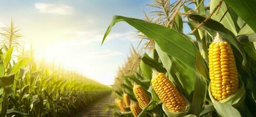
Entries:
{"type": "Polygon", "coordinates": [[[141,106],[141,108],[145,108],[145,106],[150,102],[150,98],[146,92],[142,89],[141,85],[134,85],[133,91],[137,101],[139,102],[139,106],[141,106]]]}

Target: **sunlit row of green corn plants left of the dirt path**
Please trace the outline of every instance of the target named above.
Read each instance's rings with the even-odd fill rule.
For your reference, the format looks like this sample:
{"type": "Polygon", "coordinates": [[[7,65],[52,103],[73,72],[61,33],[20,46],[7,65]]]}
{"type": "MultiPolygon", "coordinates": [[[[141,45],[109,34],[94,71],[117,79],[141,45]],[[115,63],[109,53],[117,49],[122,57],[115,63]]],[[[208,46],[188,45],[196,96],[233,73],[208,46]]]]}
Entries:
{"type": "Polygon", "coordinates": [[[14,51],[0,49],[0,116],[73,116],[111,92],[74,71],[17,57],[14,51]]]}

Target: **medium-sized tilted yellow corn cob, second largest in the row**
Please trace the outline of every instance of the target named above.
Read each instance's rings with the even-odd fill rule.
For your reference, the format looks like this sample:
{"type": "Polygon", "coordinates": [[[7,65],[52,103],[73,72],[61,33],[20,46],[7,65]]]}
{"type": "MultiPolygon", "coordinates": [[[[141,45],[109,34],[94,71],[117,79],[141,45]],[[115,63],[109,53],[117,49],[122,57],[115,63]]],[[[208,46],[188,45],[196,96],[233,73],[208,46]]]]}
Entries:
{"type": "Polygon", "coordinates": [[[177,88],[168,80],[165,74],[159,73],[151,80],[151,83],[165,108],[172,112],[185,111],[185,99],[179,94],[177,88]]]}

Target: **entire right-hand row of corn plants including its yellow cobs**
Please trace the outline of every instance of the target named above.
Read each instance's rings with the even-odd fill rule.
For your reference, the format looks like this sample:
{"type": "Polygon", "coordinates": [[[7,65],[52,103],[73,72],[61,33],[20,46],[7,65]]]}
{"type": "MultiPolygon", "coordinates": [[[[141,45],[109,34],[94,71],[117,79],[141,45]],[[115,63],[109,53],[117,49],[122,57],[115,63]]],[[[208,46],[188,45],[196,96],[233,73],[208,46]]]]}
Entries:
{"type": "Polygon", "coordinates": [[[118,76],[114,116],[256,116],[255,5],[155,0],[153,18],[114,16],[102,43],[121,21],[148,41],[137,70],[118,76]]]}

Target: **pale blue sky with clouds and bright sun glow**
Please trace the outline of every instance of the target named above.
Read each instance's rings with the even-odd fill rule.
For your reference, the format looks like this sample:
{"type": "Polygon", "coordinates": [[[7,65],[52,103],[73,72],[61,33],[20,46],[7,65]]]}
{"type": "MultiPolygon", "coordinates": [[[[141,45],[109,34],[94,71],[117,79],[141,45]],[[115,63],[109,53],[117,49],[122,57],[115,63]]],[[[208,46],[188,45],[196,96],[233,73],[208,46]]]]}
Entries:
{"type": "MultiPolygon", "coordinates": [[[[0,27],[13,19],[21,27],[21,42],[33,43],[36,59],[53,60],[104,84],[112,84],[131,44],[135,29],[118,23],[101,46],[114,15],[143,18],[152,0],[0,1],[0,27]]],[[[187,26],[185,26],[187,29],[187,26]]]]}

